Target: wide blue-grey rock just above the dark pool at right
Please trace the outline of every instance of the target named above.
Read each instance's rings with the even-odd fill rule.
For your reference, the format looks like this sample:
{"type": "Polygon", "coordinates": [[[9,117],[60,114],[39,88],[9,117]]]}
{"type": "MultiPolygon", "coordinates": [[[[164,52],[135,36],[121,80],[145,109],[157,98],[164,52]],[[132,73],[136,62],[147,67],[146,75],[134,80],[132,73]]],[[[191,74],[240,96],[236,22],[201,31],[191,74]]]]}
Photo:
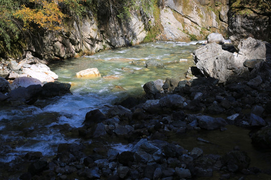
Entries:
{"type": "Polygon", "coordinates": [[[214,118],[208,115],[199,116],[198,123],[200,128],[205,128],[207,130],[217,129],[227,124],[227,122],[221,117],[214,118]]]}

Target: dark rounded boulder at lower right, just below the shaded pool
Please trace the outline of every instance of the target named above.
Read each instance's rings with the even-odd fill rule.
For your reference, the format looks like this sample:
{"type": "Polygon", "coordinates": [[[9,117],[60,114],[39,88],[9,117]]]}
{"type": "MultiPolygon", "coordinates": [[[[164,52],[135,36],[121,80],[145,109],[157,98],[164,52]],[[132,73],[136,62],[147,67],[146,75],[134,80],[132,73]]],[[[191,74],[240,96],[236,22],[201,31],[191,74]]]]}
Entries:
{"type": "Polygon", "coordinates": [[[221,157],[221,162],[231,172],[241,171],[250,164],[250,158],[244,151],[231,151],[221,157]]]}

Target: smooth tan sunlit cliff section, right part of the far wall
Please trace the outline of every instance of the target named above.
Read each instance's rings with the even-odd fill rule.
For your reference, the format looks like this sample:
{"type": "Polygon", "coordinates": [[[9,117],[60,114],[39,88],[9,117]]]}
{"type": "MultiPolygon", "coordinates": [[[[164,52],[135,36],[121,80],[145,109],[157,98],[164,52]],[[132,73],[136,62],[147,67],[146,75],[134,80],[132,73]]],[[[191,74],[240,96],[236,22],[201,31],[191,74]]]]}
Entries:
{"type": "Polygon", "coordinates": [[[227,34],[228,0],[165,0],[161,7],[163,40],[205,39],[227,34]]]}

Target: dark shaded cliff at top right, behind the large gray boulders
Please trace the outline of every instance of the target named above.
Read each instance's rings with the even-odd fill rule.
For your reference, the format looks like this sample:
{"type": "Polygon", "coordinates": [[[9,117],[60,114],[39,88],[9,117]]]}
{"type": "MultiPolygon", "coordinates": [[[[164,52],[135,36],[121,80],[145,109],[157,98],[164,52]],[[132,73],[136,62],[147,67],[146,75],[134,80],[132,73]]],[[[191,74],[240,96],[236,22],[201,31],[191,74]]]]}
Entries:
{"type": "Polygon", "coordinates": [[[270,1],[231,0],[228,18],[228,33],[235,46],[248,37],[271,41],[270,1]]]}

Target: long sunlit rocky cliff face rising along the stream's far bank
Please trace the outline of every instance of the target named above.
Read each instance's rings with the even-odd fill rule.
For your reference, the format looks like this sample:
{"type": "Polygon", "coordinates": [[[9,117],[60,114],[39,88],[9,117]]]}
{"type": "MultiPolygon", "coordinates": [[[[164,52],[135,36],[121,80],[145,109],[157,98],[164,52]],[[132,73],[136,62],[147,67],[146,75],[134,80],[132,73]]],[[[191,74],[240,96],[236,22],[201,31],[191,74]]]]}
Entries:
{"type": "Polygon", "coordinates": [[[204,39],[211,32],[227,33],[227,0],[160,0],[155,11],[134,9],[126,18],[119,18],[110,2],[81,18],[71,17],[61,32],[32,38],[27,51],[49,61],[89,55],[143,42],[156,26],[161,28],[151,40],[187,41],[204,39]]]}

